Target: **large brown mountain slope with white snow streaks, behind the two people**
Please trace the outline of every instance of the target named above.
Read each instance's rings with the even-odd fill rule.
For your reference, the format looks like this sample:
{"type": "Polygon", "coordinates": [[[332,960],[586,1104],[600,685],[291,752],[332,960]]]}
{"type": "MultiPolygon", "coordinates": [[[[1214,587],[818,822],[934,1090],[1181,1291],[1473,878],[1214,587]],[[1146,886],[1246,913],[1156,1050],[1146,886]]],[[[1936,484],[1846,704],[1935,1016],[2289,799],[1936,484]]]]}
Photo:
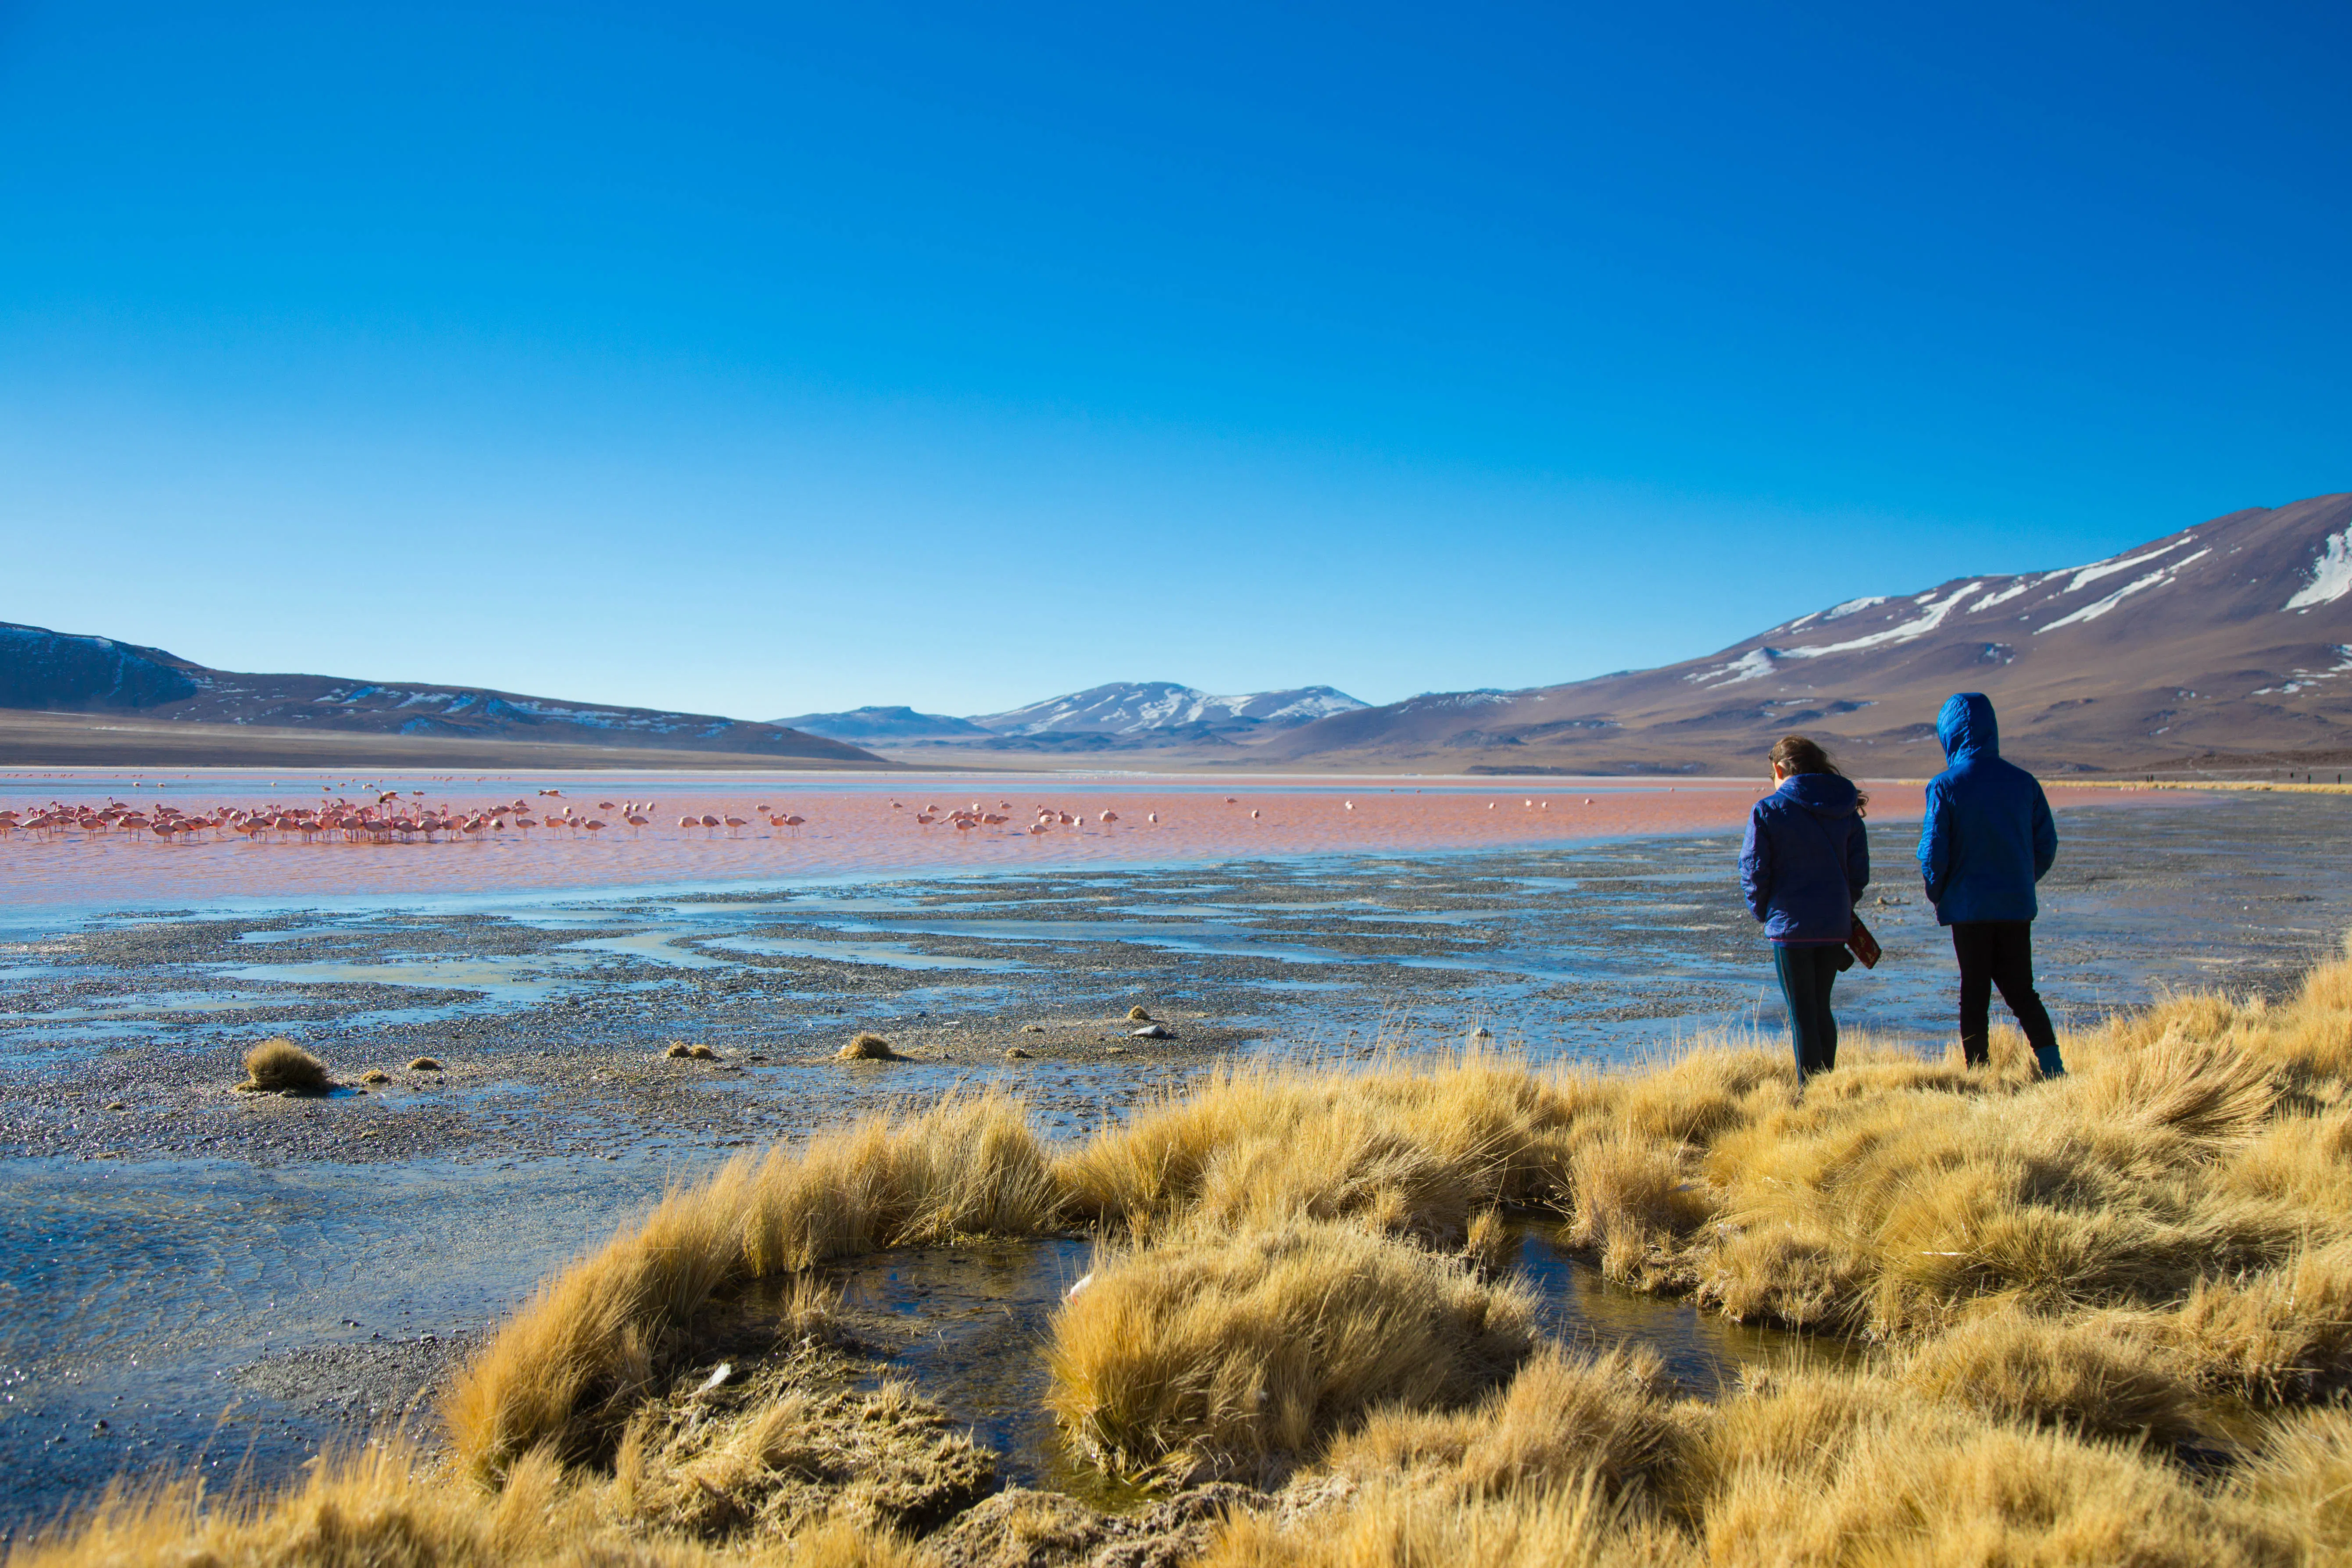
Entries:
{"type": "Polygon", "coordinates": [[[1924,773],[1952,691],[1990,693],[2004,750],[2044,769],[2352,745],[2352,496],[2230,512],[2084,567],[1851,599],[1661,670],[1343,712],[1251,757],[1724,771],[1802,729],[1856,769],[1924,773]]]}

